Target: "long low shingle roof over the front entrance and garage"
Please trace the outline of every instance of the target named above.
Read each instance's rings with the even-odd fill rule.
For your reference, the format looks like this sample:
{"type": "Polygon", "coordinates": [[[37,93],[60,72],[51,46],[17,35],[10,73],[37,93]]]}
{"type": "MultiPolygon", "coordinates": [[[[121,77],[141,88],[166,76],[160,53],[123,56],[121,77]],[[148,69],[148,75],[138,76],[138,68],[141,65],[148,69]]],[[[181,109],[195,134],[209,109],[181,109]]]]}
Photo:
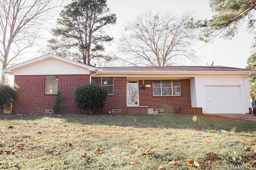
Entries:
{"type": "Polygon", "coordinates": [[[249,72],[252,70],[242,69],[242,68],[233,68],[233,67],[226,67],[226,66],[128,66],[128,67],[97,67],[100,72],[214,72],[214,71],[244,71],[249,72]]]}

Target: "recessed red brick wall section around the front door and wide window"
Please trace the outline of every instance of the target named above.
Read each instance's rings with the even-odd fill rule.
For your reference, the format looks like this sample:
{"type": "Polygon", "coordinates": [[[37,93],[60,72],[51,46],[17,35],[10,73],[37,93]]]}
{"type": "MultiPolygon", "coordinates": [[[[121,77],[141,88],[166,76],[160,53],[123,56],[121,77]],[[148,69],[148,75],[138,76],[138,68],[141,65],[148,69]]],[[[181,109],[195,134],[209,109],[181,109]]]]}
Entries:
{"type": "MultiPolygon", "coordinates": [[[[101,78],[93,78],[101,84],[101,78]]],[[[126,106],[126,77],[114,77],[114,94],[108,95],[106,105],[99,113],[108,113],[112,109],[121,109],[122,114],[147,114],[148,108],[164,109],[160,113],[179,113],[180,107],[191,107],[190,80],[180,80],[181,96],[153,96],[152,80],[139,80],[139,107],[126,106]],[[145,87],[150,84],[151,87],[145,87]],[[145,87],[145,88],[144,88],[145,87]]]]}

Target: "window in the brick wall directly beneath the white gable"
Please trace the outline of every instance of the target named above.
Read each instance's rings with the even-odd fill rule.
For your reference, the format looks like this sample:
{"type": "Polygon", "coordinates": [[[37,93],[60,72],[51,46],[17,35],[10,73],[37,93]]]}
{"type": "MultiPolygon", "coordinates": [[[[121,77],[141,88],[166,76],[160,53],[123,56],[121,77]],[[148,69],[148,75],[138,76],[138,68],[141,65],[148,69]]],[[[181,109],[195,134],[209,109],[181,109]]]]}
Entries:
{"type": "Polygon", "coordinates": [[[46,75],[45,94],[57,94],[58,75],[46,75]]]}

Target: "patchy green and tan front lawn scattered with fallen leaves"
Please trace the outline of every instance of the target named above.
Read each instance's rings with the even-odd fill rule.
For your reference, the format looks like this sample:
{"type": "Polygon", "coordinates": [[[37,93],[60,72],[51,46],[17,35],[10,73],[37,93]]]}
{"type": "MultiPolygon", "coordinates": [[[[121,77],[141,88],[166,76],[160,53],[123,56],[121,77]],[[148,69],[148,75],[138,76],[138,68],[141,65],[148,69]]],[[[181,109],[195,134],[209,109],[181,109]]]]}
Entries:
{"type": "Polygon", "coordinates": [[[0,169],[226,170],[232,158],[256,158],[256,122],[224,117],[0,115],[0,125],[0,169]],[[101,154],[94,153],[97,148],[101,154]],[[142,156],[147,150],[151,154],[142,156]],[[213,164],[187,163],[204,161],[208,152],[218,155],[213,164]],[[136,164],[129,165],[132,160],[136,164]],[[170,164],[173,160],[178,164],[170,164]]]}

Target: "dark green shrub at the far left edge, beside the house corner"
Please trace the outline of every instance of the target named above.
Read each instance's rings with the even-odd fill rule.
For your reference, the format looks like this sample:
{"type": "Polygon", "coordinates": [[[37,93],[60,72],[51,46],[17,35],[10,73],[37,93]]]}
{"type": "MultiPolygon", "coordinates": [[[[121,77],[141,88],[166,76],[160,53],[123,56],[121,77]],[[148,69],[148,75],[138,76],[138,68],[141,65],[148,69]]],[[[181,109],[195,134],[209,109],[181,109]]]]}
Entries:
{"type": "Polygon", "coordinates": [[[11,107],[12,100],[16,97],[16,90],[4,84],[0,84],[0,113],[5,107],[11,107]]]}

